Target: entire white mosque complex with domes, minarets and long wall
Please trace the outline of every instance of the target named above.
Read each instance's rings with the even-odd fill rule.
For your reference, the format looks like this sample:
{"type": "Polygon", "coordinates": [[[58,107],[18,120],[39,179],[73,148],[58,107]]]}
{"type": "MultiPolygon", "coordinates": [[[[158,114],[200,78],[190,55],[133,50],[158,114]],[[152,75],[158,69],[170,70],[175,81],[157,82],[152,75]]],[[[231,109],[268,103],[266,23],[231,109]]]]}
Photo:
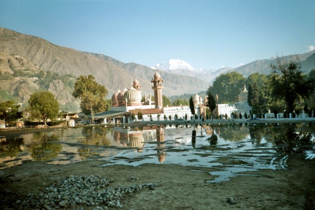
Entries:
{"type": "MultiPolygon", "coordinates": [[[[96,124],[119,124],[132,123],[139,121],[165,121],[165,120],[193,120],[190,106],[164,106],[163,105],[163,79],[159,72],[153,75],[151,80],[151,88],[153,90],[154,101],[151,93],[145,95],[144,102],[142,100],[141,84],[136,79],[132,82],[129,89],[118,89],[111,97],[112,106],[110,110],[96,113],[94,115],[94,123],[96,124]],[[138,114],[142,114],[142,119],[139,120],[138,114]],[[135,118],[132,119],[132,116],[135,118]]],[[[215,118],[225,117],[231,118],[231,113],[249,114],[251,107],[247,104],[247,90],[244,85],[244,90],[239,95],[239,101],[234,104],[218,104],[218,95],[216,95],[216,108],[212,112],[215,118]]],[[[193,96],[193,104],[195,114],[199,120],[206,119],[207,109],[205,104],[207,97],[203,100],[197,93],[193,96]]],[[[83,118],[85,124],[94,124],[91,122],[91,116],[83,118]]]]}

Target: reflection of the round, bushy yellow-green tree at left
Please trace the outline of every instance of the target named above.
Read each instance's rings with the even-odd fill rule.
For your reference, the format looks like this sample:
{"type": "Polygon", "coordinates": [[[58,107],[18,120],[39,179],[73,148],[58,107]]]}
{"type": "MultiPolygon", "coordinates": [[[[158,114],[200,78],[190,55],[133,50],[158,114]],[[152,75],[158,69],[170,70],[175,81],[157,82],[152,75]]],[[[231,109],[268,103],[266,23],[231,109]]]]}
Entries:
{"type": "Polygon", "coordinates": [[[34,137],[30,150],[35,161],[47,161],[56,158],[62,150],[62,145],[56,143],[59,139],[54,133],[48,136],[46,131],[37,132],[34,133],[34,137]]]}

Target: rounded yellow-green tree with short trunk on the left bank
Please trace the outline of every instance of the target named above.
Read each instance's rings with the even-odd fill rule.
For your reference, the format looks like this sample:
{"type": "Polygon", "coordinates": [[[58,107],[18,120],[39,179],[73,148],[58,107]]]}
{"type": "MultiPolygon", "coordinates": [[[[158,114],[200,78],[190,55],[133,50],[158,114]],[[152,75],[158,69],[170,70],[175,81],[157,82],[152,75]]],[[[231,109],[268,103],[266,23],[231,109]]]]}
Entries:
{"type": "Polygon", "coordinates": [[[59,103],[51,92],[34,92],[28,103],[31,116],[43,120],[45,127],[48,119],[54,120],[58,116],[59,103]]]}

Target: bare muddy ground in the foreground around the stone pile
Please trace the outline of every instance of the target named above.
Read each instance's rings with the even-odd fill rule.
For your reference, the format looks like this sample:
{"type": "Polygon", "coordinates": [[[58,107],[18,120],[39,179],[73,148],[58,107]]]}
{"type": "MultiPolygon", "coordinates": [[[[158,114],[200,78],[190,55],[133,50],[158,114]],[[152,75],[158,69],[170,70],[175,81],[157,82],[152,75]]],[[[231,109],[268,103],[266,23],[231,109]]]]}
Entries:
{"type": "Polygon", "coordinates": [[[19,192],[18,199],[23,199],[21,196],[39,193],[54,180],[88,174],[113,179],[112,186],[159,184],[154,190],[126,194],[121,209],[315,209],[315,160],[289,159],[288,169],[263,170],[255,173],[258,176],[238,176],[222,183],[207,182],[214,178],[207,172],[211,168],[165,164],[98,167],[102,164],[27,162],[0,170],[0,209],[13,209],[10,203],[17,199],[7,189],[19,192]],[[130,176],[138,180],[131,182],[130,176]]]}

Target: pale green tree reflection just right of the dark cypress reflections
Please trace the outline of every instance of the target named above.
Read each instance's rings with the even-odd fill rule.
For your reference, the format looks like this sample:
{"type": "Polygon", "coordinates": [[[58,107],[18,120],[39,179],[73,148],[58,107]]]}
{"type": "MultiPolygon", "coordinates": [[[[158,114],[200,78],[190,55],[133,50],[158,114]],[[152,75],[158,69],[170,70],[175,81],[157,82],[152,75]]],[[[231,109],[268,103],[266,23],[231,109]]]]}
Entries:
{"type": "MultiPolygon", "coordinates": [[[[225,141],[239,142],[246,139],[248,133],[241,131],[242,126],[226,125],[220,127],[220,137],[225,141]]],[[[244,130],[244,128],[242,128],[244,130]]]]}

